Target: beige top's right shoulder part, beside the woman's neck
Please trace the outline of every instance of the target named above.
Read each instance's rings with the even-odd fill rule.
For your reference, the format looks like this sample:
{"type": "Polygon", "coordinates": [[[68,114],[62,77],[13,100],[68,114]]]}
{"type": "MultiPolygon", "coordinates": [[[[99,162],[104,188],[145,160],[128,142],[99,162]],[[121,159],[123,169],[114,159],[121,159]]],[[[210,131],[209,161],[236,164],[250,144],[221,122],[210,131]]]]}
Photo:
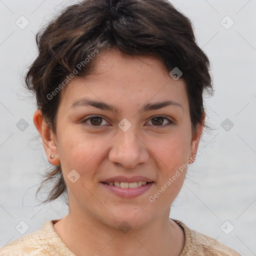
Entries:
{"type": "Polygon", "coordinates": [[[216,239],[188,228],[179,220],[172,220],[183,229],[185,234],[185,245],[180,256],[241,256],[238,252],[216,239]]]}

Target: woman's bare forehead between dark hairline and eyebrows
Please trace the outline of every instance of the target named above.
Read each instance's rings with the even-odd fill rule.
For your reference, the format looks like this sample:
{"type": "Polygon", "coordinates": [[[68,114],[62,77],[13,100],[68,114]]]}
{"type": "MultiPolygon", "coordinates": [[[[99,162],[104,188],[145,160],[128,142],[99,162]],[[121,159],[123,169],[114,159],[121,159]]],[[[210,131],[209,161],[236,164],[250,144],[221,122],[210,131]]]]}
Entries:
{"type": "Polygon", "coordinates": [[[132,56],[109,49],[99,52],[92,61],[93,73],[73,78],[61,93],[65,105],[82,96],[137,104],[163,97],[180,101],[186,98],[184,81],[173,80],[161,60],[153,56],[132,56]]]}

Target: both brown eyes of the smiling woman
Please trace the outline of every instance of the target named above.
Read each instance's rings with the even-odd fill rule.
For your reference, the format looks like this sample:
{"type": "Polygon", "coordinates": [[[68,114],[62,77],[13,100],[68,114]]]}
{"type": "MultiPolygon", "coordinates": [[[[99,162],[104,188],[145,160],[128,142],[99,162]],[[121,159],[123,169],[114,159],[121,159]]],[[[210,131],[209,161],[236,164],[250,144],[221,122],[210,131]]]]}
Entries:
{"type": "MultiPolygon", "coordinates": [[[[164,117],[164,116],[154,116],[149,120],[149,122],[150,121],[153,126],[160,126],[160,127],[166,127],[173,124],[171,120],[169,120],[167,117],[164,117]],[[166,120],[167,122],[164,123],[164,120],[166,120]],[[167,125],[162,125],[162,124],[167,124],[167,125]]],[[[101,116],[91,116],[82,120],[82,123],[85,123],[86,126],[102,126],[100,124],[102,123],[107,124],[107,121],[101,116]],[[88,121],[90,123],[88,123],[88,121]],[[104,121],[105,123],[103,123],[104,121]]]]}

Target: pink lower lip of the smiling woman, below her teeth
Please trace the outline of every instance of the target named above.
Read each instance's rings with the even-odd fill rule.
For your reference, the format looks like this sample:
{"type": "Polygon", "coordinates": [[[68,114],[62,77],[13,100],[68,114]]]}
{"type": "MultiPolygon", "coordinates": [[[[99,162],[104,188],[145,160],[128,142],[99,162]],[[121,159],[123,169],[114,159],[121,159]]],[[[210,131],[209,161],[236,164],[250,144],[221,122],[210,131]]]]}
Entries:
{"type": "Polygon", "coordinates": [[[100,182],[105,188],[110,190],[112,193],[125,197],[125,198],[130,198],[130,197],[135,197],[138,195],[141,195],[145,191],[147,191],[153,184],[154,182],[148,182],[145,185],[138,186],[136,188],[121,188],[118,186],[114,185],[108,185],[107,183],[100,182]]]}

